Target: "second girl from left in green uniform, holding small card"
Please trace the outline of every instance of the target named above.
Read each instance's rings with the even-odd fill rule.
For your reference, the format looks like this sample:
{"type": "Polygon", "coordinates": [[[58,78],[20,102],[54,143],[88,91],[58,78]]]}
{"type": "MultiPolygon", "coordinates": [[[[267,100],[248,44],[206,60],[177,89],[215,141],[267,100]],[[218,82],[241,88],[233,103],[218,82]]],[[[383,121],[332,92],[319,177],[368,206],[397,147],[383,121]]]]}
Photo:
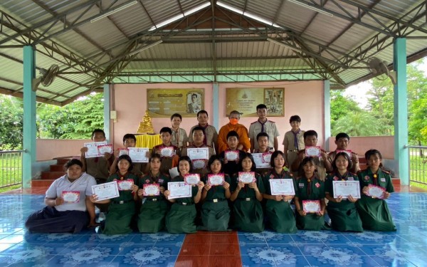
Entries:
{"type": "Polygon", "coordinates": [[[142,199],[141,210],[138,216],[138,229],[141,233],[157,233],[164,229],[164,218],[167,214],[167,200],[164,199],[164,190],[167,188],[169,177],[160,173],[162,157],[154,154],[149,159],[149,172],[139,179],[138,197],[142,199]],[[158,184],[158,196],[144,196],[144,184],[158,184]]]}

